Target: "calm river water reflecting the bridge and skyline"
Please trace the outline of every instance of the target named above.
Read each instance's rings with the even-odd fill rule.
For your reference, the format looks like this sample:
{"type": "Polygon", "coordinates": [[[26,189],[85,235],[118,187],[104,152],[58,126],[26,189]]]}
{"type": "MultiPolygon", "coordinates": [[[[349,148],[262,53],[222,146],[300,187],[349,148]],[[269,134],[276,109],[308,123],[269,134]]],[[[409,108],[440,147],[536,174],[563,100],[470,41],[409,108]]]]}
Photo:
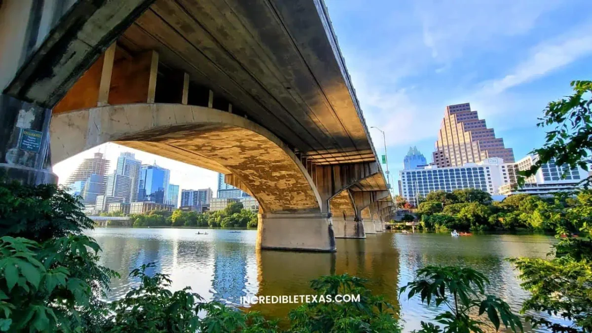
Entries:
{"type": "MultiPolygon", "coordinates": [[[[437,310],[401,296],[399,287],[425,265],[475,268],[491,281],[497,294],[516,310],[527,293],[517,272],[505,259],[544,258],[554,238],[544,235],[474,235],[453,238],[437,233],[367,235],[337,239],[336,253],[256,251],[255,230],[97,228],[89,235],[101,245],[101,264],[121,274],[111,283],[110,299],[117,299],[139,281],[127,274],[141,264],[156,262],[152,272],[170,274],[172,289],[190,286],[206,300],[239,305],[241,296],[311,294],[310,280],[327,274],[349,273],[371,281],[375,294],[384,294],[400,308],[404,331],[419,328],[437,310]],[[208,232],[208,235],[197,235],[208,232]]],[[[253,305],[264,315],[285,318],[295,305],[253,305]]],[[[525,331],[533,331],[525,326],[525,331]]]]}

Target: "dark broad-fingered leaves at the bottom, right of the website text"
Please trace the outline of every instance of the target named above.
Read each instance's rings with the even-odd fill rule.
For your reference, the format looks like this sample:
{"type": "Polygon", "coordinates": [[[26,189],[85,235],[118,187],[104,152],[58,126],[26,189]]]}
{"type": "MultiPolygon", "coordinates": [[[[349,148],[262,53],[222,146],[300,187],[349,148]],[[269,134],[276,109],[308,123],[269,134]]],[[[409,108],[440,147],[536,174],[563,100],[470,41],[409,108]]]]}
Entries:
{"type": "Polygon", "coordinates": [[[444,325],[442,330],[422,322],[419,332],[484,332],[487,327],[498,331],[501,324],[513,332],[523,331],[520,318],[511,312],[506,302],[497,296],[485,295],[484,287],[489,281],[482,273],[472,268],[427,266],[417,270],[416,275],[416,280],[401,287],[400,294],[408,290],[409,299],[417,294],[428,306],[446,307],[434,318],[444,325]],[[472,312],[477,309],[477,319],[474,319],[472,312]],[[478,320],[484,314],[488,323],[478,320]]]}

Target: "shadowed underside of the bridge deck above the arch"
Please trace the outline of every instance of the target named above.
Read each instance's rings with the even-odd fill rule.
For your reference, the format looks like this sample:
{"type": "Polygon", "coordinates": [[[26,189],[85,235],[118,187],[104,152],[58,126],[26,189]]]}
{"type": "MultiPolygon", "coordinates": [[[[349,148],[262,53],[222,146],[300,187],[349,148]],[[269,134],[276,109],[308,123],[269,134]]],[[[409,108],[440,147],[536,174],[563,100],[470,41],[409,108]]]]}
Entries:
{"type": "Polygon", "coordinates": [[[376,160],[320,2],[157,0],[118,43],[157,50],[314,164],[376,160]]]}

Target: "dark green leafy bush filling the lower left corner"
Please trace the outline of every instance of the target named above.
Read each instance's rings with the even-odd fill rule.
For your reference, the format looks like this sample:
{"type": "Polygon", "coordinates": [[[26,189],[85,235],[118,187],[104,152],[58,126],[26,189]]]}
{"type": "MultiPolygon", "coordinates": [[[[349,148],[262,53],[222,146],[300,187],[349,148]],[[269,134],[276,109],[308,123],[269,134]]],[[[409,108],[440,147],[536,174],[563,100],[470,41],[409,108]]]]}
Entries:
{"type": "Polygon", "coordinates": [[[0,183],[0,330],[94,332],[116,273],[99,266],[93,223],[54,185],[0,183]]]}

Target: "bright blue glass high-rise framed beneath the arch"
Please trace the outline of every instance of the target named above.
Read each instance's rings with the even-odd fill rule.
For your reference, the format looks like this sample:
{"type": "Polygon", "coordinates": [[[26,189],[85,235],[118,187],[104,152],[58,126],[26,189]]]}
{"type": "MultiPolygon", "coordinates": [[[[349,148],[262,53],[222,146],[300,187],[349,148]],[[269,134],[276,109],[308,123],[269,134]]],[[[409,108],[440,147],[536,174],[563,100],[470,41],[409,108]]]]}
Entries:
{"type": "Polygon", "coordinates": [[[155,165],[142,165],[138,201],[164,203],[169,191],[170,170],[155,165]]]}

